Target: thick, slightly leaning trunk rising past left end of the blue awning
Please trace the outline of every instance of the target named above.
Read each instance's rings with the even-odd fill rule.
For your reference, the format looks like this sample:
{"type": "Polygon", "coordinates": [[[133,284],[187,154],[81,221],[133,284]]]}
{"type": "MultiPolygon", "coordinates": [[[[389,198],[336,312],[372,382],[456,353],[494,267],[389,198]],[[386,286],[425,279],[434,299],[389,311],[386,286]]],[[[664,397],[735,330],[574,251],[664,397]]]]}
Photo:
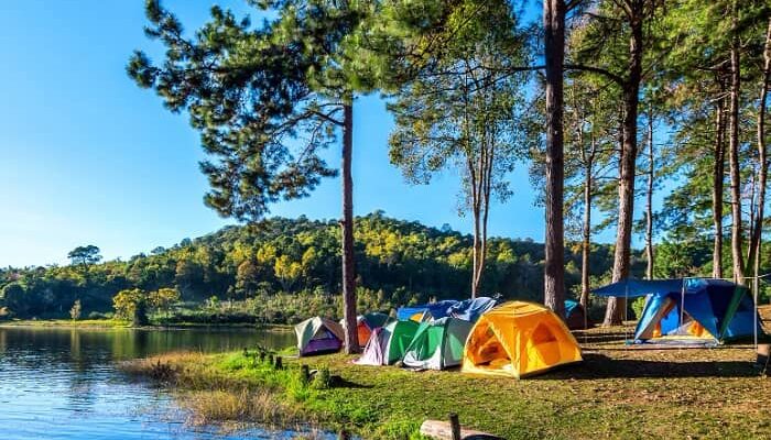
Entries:
{"type": "MultiPolygon", "coordinates": [[[[642,74],[642,2],[631,2],[634,7],[630,20],[629,77],[623,84],[623,120],[621,157],[619,161],[618,186],[618,229],[616,231],[616,253],[613,255],[612,280],[619,282],[629,276],[632,245],[632,217],[634,213],[634,173],[637,164],[637,116],[642,74]]],[[[620,324],[627,309],[627,299],[611,297],[605,310],[604,326],[620,324]]]]}

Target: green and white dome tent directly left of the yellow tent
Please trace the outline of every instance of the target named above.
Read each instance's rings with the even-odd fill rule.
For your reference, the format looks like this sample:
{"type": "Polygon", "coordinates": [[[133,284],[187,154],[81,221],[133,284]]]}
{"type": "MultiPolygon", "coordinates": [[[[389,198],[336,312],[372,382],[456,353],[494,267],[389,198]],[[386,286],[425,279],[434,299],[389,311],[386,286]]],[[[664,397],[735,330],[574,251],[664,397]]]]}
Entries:
{"type": "Polygon", "coordinates": [[[460,365],[473,327],[474,323],[455,318],[422,322],[404,352],[404,366],[444,370],[460,365]]]}

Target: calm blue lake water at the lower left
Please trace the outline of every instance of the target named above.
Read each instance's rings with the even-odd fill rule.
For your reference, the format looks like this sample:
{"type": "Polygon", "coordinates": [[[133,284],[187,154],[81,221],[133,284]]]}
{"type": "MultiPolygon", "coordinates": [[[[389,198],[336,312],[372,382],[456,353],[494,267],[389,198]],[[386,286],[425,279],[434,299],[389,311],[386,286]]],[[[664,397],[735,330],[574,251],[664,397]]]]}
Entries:
{"type": "Polygon", "coordinates": [[[162,391],[129,381],[116,362],[151,354],[284,348],[290,332],[0,328],[0,438],[291,438],[260,429],[222,435],[185,426],[162,391]]]}

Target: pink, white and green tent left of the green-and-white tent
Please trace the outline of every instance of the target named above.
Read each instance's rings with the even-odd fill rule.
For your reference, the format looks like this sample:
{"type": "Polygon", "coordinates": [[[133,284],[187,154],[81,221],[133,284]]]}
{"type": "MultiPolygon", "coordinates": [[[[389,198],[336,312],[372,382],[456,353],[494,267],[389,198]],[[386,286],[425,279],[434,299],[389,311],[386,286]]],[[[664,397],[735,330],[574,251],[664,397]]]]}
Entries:
{"type": "Polygon", "coordinates": [[[391,365],[404,358],[404,351],[417,331],[415,321],[392,321],[386,327],[372,330],[359,365],[391,365]]]}

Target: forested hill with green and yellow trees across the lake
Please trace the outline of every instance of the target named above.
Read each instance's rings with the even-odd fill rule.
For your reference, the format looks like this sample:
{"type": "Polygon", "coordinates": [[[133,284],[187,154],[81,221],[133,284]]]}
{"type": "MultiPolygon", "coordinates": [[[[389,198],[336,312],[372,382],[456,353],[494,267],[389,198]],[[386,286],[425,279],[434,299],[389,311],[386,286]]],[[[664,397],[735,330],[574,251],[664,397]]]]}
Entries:
{"type": "MultiPolygon", "coordinates": [[[[0,270],[0,305],[11,316],[53,317],[66,315],[79,299],[84,314],[106,312],[122,289],[171,287],[188,305],[251,300],[259,312],[261,305],[268,307],[275,297],[291,299],[300,309],[305,299],[325,302],[323,298],[328,298],[328,308],[313,310],[334,312],[340,285],[339,242],[336,221],[273,218],[257,227],[226,227],[185,239],[127,262],[74,261],[67,266],[0,270]]],[[[596,245],[591,255],[593,274],[607,277],[610,246],[596,245]]],[[[384,309],[431,297],[469,295],[471,237],[449,228],[439,230],[374,212],[357,219],[356,257],[360,308],[384,309]]],[[[541,243],[490,239],[482,292],[541,299],[542,261],[541,243]]],[[[566,280],[575,286],[578,255],[568,251],[567,262],[566,280]]],[[[263,319],[298,318],[279,315],[263,319]]]]}

